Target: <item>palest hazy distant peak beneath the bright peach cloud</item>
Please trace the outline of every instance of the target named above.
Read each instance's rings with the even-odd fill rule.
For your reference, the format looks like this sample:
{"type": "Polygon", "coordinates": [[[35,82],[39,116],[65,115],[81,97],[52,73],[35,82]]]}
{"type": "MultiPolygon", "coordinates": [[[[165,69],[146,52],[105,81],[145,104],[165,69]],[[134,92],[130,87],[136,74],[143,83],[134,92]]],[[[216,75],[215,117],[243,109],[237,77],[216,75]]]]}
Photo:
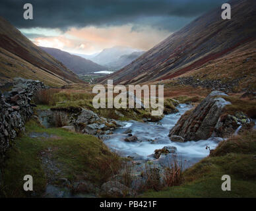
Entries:
{"type": "Polygon", "coordinates": [[[96,57],[91,58],[91,60],[100,65],[107,65],[108,63],[117,61],[122,55],[131,54],[135,51],[138,50],[131,47],[110,47],[103,49],[96,57]]]}

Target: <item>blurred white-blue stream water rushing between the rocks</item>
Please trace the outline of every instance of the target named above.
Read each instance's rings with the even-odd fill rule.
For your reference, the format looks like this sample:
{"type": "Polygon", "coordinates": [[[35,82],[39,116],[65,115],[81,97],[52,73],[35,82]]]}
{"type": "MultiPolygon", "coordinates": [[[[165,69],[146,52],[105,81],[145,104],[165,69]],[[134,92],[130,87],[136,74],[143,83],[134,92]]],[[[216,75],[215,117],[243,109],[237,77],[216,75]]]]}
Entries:
{"type": "MultiPolygon", "coordinates": [[[[138,121],[127,121],[124,127],[116,129],[109,139],[104,140],[104,143],[113,151],[117,151],[121,156],[132,156],[137,160],[156,160],[152,156],[154,150],[161,149],[164,146],[175,146],[176,154],[179,158],[187,163],[187,166],[195,164],[209,154],[206,146],[210,149],[216,148],[218,142],[222,138],[212,137],[208,140],[188,141],[188,142],[172,142],[168,137],[170,129],[174,127],[181,115],[185,111],[191,109],[191,106],[180,104],[178,113],[165,115],[158,123],[141,123],[138,121]],[[131,129],[131,133],[137,136],[138,142],[125,142],[127,134],[123,134],[127,129],[131,129]]],[[[169,155],[170,156],[170,155],[169,155]]],[[[165,157],[166,158],[166,157],[165,157]]],[[[165,159],[164,158],[164,159],[165,159]]],[[[162,156],[160,160],[163,160],[162,156]]]]}

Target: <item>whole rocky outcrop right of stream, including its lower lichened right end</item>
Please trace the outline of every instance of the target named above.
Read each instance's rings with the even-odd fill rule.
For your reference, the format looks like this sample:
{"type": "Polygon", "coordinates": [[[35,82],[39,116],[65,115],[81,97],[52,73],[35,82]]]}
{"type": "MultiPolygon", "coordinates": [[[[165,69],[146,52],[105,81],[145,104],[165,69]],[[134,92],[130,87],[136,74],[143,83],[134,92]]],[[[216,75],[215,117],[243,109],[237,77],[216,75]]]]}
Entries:
{"type": "Polygon", "coordinates": [[[241,126],[250,127],[251,119],[243,113],[228,115],[224,107],[230,102],[221,98],[223,92],[211,92],[193,111],[185,113],[169,133],[170,140],[176,137],[188,140],[205,140],[210,136],[228,137],[241,126]]]}

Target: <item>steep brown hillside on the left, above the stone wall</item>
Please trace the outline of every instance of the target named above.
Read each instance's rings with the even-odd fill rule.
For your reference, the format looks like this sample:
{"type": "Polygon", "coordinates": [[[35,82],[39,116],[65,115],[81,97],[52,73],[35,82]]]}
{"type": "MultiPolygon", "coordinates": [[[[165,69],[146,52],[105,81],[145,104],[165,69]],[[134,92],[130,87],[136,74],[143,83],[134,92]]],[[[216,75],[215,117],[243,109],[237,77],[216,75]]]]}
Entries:
{"type": "Polygon", "coordinates": [[[75,73],[33,44],[0,16],[0,84],[21,76],[61,86],[83,82],[75,73]]]}

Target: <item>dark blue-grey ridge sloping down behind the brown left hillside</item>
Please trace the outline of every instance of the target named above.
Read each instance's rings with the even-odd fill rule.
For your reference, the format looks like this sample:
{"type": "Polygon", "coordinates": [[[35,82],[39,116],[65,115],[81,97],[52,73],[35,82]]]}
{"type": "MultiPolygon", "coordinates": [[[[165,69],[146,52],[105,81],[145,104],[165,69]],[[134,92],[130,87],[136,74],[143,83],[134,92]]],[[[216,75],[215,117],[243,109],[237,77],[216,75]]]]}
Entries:
{"type": "Polygon", "coordinates": [[[84,59],[78,55],[72,55],[60,49],[52,47],[41,47],[44,51],[52,55],[55,59],[61,61],[66,67],[76,74],[84,74],[96,71],[106,71],[107,68],[94,63],[88,59],[84,59]]]}

